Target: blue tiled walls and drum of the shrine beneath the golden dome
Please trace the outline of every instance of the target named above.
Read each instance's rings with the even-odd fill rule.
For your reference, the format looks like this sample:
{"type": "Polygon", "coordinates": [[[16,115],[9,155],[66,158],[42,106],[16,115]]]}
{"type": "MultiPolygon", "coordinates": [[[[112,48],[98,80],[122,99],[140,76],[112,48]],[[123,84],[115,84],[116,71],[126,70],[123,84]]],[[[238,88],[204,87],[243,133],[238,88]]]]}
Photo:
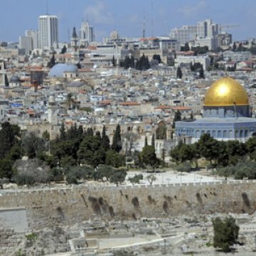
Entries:
{"type": "Polygon", "coordinates": [[[194,143],[202,134],[227,141],[245,142],[256,133],[256,119],[250,117],[250,106],[204,107],[202,119],[176,122],[176,137],[194,143]]]}

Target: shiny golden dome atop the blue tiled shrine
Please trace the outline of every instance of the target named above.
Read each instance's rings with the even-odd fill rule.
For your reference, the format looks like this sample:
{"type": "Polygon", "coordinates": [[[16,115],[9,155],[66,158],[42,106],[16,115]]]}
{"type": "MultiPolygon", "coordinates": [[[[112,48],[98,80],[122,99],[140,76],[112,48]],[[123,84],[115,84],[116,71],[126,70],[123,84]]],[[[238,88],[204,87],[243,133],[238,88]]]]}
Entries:
{"type": "Polygon", "coordinates": [[[213,82],[206,92],[205,106],[233,106],[249,105],[245,88],[233,78],[220,78],[213,82]]]}

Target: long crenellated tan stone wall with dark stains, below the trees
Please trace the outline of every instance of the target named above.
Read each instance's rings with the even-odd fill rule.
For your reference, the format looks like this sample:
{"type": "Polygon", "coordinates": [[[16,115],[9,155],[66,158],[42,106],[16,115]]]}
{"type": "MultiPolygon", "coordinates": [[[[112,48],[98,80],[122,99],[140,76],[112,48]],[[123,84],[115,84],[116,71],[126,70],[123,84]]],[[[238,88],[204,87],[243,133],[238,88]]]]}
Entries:
{"type": "Polygon", "coordinates": [[[82,220],[167,218],[209,213],[254,213],[256,181],[153,186],[73,186],[0,195],[1,208],[23,207],[28,228],[82,220]]]}

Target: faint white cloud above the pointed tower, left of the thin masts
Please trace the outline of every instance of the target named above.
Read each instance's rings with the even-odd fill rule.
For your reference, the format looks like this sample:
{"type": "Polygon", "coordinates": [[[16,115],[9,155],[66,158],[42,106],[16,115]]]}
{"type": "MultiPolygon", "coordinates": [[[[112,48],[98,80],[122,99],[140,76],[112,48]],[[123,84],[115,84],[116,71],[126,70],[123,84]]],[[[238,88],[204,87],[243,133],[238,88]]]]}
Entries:
{"type": "Polygon", "coordinates": [[[112,13],[108,12],[107,7],[102,1],[97,1],[95,5],[90,5],[85,8],[84,14],[93,23],[97,24],[112,24],[114,23],[114,17],[112,13]]]}

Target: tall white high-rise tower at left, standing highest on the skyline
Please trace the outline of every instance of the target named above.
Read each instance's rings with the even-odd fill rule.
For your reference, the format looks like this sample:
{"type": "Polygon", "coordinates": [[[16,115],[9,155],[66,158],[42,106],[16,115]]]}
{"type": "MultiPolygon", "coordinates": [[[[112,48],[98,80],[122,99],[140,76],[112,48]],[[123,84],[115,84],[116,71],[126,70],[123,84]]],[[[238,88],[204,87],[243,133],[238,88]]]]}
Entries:
{"type": "Polygon", "coordinates": [[[38,18],[39,48],[50,48],[58,43],[58,17],[43,15],[38,18]]]}

